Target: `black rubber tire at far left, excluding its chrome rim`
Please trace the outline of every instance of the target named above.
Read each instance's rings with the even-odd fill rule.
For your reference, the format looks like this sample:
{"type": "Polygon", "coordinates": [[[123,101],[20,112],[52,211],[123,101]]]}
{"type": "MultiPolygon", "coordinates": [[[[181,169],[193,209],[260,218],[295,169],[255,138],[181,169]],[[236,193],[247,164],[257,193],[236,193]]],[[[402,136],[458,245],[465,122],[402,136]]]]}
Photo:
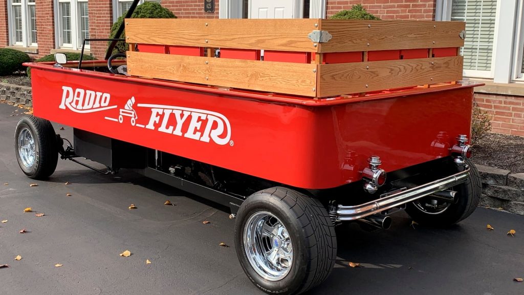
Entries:
{"type": "Polygon", "coordinates": [[[58,162],[57,135],[54,133],[51,122],[34,115],[22,117],[16,124],[15,154],[20,169],[28,177],[42,180],[51,176],[58,162]],[[25,128],[29,130],[35,141],[35,163],[29,168],[21,163],[18,152],[18,134],[25,128]]]}

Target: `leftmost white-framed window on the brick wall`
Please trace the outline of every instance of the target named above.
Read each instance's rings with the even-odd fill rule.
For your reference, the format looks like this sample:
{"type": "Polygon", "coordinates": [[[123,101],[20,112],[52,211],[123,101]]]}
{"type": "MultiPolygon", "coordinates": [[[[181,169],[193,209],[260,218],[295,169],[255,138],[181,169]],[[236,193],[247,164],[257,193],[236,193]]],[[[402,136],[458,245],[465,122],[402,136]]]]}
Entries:
{"type": "Polygon", "coordinates": [[[37,46],[36,0],[11,0],[9,4],[9,44],[37,46]]]}

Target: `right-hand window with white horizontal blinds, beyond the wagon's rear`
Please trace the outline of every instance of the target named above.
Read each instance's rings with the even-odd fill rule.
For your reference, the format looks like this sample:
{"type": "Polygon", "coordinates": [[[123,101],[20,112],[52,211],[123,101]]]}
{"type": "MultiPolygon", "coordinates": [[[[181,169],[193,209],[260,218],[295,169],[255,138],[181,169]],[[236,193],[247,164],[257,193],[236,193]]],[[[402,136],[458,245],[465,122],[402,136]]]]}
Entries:
{"type": "Polygon", "coordinates": [[[493,78],[496,13],[497,0],[452,2],[451,20],[466,22],[466,38],[461,48],[466,76],[493,78]]]}

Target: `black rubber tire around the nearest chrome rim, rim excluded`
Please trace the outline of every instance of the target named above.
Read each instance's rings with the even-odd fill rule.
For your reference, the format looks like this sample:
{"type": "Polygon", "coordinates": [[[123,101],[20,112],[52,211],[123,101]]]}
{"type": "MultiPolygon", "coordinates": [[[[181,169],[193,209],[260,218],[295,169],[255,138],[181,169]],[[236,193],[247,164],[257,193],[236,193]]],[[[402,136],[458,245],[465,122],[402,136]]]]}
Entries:
{"type": "Polygon", "coordinates": [[[270,294],[300,294],[319,285],[330,275],[336,259],[335,228],[318,199],[292,189],[273,187],[249,196],[238,210],[235,247],[244,272],[260,290],[270,294]],[[279,281],[260,277],[244,250],[245,223],[261,210],[274,214],[291,237],[291,269],[279,281]]]}

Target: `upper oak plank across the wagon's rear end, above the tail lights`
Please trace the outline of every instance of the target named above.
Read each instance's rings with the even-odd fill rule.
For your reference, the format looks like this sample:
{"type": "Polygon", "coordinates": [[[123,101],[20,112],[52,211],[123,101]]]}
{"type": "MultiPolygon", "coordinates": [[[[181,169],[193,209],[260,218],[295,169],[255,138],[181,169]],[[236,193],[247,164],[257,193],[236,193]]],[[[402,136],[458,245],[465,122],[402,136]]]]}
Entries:
{"type": "Polygon", "coordinates": [[[319,44],[318,52],[462,47],[464,22],[429,20],[322,19],[320,29],[333,38],[319,44]]]}

